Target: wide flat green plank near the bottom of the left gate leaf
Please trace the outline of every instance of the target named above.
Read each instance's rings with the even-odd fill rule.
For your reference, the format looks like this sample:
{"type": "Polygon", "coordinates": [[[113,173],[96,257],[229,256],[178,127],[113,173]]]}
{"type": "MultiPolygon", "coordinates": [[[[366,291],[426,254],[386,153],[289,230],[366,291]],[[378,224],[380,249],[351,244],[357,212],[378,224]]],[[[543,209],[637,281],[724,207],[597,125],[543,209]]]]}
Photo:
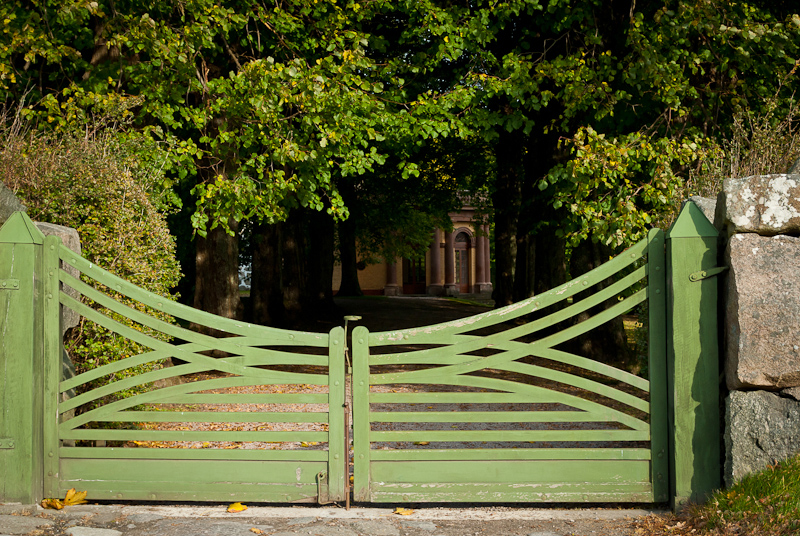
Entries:
{"type": "Polygon", "coordinates": [[[127,482],[124,485],[128,489],[144,490],[213,489],[224,484],[316,484],[317,473],[325,470],[325,462],[128,459],[120,463],[114,459],[65,458],[61,461],[61,482],[83,482],[87,486],[94,481],[127,482]]]}

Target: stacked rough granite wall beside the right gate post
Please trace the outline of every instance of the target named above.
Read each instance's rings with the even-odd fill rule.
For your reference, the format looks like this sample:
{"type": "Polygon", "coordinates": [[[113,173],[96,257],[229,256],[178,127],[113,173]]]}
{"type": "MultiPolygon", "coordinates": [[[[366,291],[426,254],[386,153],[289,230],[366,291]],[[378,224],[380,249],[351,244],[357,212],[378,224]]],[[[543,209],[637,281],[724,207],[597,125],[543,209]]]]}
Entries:
{"type": "Polygon", "coordinates": [[[730,485],[800,452],[800,175],[726,180],[715,225],[730,485]]]}

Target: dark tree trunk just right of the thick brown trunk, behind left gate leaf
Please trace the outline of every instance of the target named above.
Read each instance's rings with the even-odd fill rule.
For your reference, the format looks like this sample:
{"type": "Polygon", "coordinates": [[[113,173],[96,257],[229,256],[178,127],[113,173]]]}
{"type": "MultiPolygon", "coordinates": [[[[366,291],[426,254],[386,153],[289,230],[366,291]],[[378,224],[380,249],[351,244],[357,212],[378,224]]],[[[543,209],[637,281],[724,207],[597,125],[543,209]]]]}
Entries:
{"type": "Polygon", "coordinates": [[[265,326],[284,326],[286,310],[283,305],[281,267],[282,224],[259,224],[253,230],[253,276],[250,300],[253,322],[265,326]]]}

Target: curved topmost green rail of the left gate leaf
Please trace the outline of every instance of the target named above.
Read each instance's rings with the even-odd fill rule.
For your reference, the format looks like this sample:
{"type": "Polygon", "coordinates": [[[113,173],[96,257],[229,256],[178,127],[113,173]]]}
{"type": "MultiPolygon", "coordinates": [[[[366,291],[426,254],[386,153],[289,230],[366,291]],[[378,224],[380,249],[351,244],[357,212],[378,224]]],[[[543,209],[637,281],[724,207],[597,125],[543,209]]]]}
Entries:
{"type": "MultiPolygon", "coordinates": [[[[245,337],[261,337],[270,339],[273,344],[281,346],[328,346],[328,337],[324,333],[306,333],[301,331],[288,331],[266,326],[248,324],[238,320],[231,320],[221,316],[212,315],[198,309],[170,301],[163,296],[148,292],[124,279],[121,279],[87,261],[69,248],[62,246],[59,250],[61,259],[108,288],[115,290],[133,300],[147,305],[153,309],[167,313],[170,316],[181,318],[187,322],[209,326],[219,331],[245,337]]],[[[62,273],[63,277],[63,273],[62,273]]]]}

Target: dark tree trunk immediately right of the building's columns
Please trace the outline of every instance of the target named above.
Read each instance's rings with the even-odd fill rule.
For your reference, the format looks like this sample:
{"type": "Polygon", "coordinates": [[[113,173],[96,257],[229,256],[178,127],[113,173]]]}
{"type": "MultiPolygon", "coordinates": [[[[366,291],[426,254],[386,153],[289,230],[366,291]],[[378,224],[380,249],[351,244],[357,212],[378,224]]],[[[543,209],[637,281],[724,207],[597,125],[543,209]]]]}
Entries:
{"type": "Polygon", "coordinates": [[[523,135],[500,132],[495,144],[497,179],[492,192],[494,206],[495,307],[514,302],[514,269],[517,255],[517,220],[523,178],[523,135]]]}

